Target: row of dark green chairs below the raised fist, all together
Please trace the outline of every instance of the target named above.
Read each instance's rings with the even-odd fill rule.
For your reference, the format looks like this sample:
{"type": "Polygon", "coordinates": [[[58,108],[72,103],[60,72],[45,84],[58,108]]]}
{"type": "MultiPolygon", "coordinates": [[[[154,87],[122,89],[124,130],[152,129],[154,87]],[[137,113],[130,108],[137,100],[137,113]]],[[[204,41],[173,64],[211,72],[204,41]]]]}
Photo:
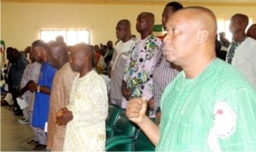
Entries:
{"type": "Polygon", "coordinates": [[[116,105],[109,104],[106,151],[154,151],[154,145],[116,105]]]}

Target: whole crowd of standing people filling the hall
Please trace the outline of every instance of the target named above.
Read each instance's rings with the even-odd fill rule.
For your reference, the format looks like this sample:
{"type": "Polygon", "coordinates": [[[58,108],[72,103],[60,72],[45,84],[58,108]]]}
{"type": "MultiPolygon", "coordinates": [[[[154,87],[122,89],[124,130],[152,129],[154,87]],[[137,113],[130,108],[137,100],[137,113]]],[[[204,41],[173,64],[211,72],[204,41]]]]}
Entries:
{"type": "Polygon", "coordinates": [[[247,15],[234,14],[232,42],[224,32],[218,41],[210,9],[177,2],[161,21],[163,39],[153,34],[154,14],[142,12],[140,37],[119,20],[115,45],[37,40],[26,48],[30,62],[7,48],[13,110],[34,133],[27,143],[104,151],[108,104],[116,104],[159,151],[256,150],[255,24],[246,31],[247,15]]]}

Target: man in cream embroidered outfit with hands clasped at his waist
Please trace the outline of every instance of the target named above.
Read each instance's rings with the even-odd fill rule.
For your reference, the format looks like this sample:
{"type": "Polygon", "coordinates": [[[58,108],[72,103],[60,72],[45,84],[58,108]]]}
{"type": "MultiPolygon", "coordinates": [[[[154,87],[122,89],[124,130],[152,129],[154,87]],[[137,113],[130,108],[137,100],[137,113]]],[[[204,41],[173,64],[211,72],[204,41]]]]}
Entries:
{"type": "Polygon", "coordinates": [[[55,114],[55,123],[66,125],[64,151],[104,151],[108,115],[107,87],[92,70],[93,51],[79,43],[71,48],[70,65],[79,72],[74,79],[70,103],[55,114]]]}

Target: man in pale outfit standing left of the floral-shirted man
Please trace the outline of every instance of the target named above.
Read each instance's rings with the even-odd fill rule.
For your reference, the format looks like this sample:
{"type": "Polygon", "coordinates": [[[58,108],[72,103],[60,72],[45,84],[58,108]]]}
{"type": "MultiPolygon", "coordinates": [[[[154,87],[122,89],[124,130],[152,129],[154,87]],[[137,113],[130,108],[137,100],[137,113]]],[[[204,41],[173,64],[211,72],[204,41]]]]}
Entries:
{"type": "Polygon", "coordinates": [[[111,66],[111,82],[110,82],[110,99],[112,104],[122,106],[123,94],[121,91],[124,70],[129,51],[135,44],[135,40],[131,37],[131,23],[129,20],[119,20],[116,25],[116,37],[119,42],[115,46],[111,66]]]}

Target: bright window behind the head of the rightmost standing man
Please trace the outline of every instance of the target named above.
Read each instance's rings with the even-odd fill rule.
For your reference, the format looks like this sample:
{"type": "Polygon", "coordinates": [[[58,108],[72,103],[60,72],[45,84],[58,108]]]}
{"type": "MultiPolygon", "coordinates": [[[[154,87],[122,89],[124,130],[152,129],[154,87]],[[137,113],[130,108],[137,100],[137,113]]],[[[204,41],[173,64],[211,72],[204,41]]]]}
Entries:
{"type": "MultiPolygon", "coordinates": [[[[247,29],[250,25],[253,24],[252,18],[249,18],[249,24],[247,25],[247,29]]],[[[218,33],[224,31],[226,34],[226,38],[232,41],[232,34],[230,33],[230,19],[218,19],[218,33]]],[[[218,37],[219,39],[219,37],[218,37]]]]}

